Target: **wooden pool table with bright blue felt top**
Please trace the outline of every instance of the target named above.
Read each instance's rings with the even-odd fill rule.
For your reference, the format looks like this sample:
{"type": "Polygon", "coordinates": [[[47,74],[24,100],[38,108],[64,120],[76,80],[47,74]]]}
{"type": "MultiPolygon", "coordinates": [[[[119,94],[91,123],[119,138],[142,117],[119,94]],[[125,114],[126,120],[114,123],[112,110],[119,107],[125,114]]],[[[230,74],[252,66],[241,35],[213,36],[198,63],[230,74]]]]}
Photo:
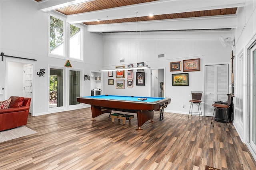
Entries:
{"type": "Polygon", "coordinates": [[[118,96],[118,95],[98,95],[77,97],[79,103],[91,105],[92,120],[103,113],[111,111],[122,111],[128,113],[137,113],[138,129],[146,123],[153,120],[154,111],[161,111],[171,102],[170,98],[162,97],[139,97],[139,96],[118,96]],[[146,100],[139,100],[145,99],[146,100]]]}

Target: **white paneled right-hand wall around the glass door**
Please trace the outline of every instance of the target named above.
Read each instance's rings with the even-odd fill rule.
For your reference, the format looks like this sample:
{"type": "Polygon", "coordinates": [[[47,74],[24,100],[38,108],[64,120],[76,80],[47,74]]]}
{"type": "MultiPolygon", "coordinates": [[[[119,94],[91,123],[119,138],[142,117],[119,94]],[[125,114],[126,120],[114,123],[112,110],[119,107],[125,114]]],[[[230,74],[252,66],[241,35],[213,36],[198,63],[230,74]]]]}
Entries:
{"type": "Polygon", "coordinates": [[[249,90],[247,68],[250,67],[248,66],[249,57],[247,49],[256,41],[256,0],[246,0],[246,5],[243,8],[239,8],[236,15],[238,16],[237,28],[232,30],[236,40],[234,47],[234,63],[236,64],[234,67],[233,125],[241,140],[247,144],[252,156],[256,160],[256,149],[253,149],[248,144],[248,136],[250,134],[248,129],[248,125],[250,125],[248,106],[250,106],[250,101],[247,99],[247,91],[249,90]],[[241,70],[241,65],[243,70],[241,70]]]}

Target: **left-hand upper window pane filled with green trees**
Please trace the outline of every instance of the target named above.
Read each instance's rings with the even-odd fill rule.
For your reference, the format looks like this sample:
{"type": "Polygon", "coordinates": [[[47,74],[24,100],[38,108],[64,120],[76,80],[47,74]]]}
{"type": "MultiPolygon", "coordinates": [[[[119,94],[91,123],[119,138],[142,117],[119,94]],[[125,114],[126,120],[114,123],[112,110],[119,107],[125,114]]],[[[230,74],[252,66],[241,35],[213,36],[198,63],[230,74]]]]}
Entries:
{"type": "Polygon", "coordinates": [[[50,16],[50,53],[64,55],[64,22],[50,16]]]}

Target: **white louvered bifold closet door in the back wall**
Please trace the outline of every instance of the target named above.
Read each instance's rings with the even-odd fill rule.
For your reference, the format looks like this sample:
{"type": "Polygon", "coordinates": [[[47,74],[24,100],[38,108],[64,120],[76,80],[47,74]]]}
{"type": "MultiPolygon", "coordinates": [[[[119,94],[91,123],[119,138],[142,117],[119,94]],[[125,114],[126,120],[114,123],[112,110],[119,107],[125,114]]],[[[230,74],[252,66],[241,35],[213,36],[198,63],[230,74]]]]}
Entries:
{"type": "Polygon", "coordinates": [[[205,66],[205,116],[212,116],[214,101],[228,100],[228,64],[205,66]]]}

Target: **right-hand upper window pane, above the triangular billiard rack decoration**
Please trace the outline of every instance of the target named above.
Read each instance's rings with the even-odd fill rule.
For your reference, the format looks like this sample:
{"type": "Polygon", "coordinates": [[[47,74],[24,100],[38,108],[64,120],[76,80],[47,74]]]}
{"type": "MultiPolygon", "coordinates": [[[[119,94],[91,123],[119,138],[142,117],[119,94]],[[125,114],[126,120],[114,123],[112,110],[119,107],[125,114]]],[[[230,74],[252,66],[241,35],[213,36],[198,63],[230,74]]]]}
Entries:
{"type": "Polygon", "coordinates": [[[69,56],[70,58],[81,58],[81,29],[71,25],[69,27],[69,56]]]}

